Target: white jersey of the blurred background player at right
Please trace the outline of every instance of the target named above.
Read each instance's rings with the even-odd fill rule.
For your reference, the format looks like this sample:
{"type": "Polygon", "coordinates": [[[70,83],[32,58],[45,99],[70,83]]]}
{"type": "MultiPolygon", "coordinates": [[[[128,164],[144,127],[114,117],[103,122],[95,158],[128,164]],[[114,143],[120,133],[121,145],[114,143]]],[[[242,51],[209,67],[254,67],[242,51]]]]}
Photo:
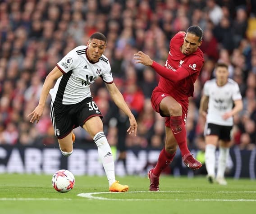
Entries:
{"type": "Polygon", "coordinates": [[[228,82],[224,86],[219,87],[216,79],[212,79],[206,81],[204,85],[204,94],[209,96],[206,123],[233,126],[233,117],[224,120],[222,115],[233,109],[234,100],[242,99],[238,83],[232,79],[228,79],[228,82]]]}

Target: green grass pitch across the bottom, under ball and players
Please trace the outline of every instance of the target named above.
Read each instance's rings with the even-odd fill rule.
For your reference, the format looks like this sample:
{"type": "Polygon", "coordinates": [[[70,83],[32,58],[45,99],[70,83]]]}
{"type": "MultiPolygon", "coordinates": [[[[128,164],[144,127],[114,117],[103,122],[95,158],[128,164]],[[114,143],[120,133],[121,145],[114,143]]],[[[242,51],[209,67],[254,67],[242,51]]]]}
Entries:
{"type": "Polygon", "coordinates": [[[254,214],[256,182],[205,177],[161,176],[160,192],[149,192],[147,177],[117,178],[129,192],[110,193],[105,177],[75,176],[73,190],[59,193],[50,175],[0,174],[1,214],[254,214]],[[77,196],[80,193],[87,197],[77,196]]]}

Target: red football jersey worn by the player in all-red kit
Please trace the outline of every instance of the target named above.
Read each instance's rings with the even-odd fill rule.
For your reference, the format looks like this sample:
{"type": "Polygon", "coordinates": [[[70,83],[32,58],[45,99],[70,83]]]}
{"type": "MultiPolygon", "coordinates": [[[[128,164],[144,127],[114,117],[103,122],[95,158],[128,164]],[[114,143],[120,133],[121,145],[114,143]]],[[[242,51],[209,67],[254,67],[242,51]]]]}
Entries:
{"type": "MultiPolygon", "coordinates": [[[[179,100],[187,100],[188,97],[193,96],[194,82],[197,80],[201,68],[204,64],[203,52],[198,48],[191,55],[184,55],[180,51],[183,45],[185,32],[178,32],[170,41],[170,51],[166,60],[165,67],[169,69],[168,72],[189,73],[189,76],[177,81],[171,81],[166,77],[160,77],[158,88],[168,94],[174,94],[179,100]]],[[[159,69],[154,62],[152,68],[159,69]]],[[[166,76],[168,74],[165,74],[166,76]]],[[[174,97],[175,98],[175,97],[174,97]]]]}

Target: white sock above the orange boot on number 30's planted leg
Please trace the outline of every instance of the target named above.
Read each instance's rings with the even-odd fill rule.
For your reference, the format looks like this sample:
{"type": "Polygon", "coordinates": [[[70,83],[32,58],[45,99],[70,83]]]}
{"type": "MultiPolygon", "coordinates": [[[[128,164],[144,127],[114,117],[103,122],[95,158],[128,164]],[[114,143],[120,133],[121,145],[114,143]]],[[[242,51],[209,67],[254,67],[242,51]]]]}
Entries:
{"type": "Polygon", "coordinates": [[[107,138],[104,132],[98,132],[93,137],[94,142],[98,147],[98,154],[105,169],[106,176],[109,181],[109,186],[115,182],[114,175],[114,158],[112,155],[112,151],[110,145],[107,141],[107,138]]]}

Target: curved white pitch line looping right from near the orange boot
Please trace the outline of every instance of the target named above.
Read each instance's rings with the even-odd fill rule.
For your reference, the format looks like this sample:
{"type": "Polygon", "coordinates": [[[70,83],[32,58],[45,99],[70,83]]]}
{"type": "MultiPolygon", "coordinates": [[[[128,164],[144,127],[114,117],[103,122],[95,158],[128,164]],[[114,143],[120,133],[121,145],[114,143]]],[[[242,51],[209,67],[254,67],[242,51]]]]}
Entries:
{"type": "MultiPolygon", "coordinates": [[[[256,201],[256,199],[120,199],[120,198],[105,198],[100,196],[93,196],[98,194],[127,194],[127,193],[141,193],[141,192],[156,192],[156,191],[129,191],[125,193],[121,192],[87,192],[87,193],[80,193],[77,196],[88,198],[88,199],[96,199],[96,200],[119,200],[119,201],[155,201],[155,200],[165,200],[165,201],[256,201]]],[[[187,191],[160,191],[160,192],[187,192],[187,191]]],[[[207,191],[197,191],[198,192],[207,192],[207,191]]],[[[218,192],[218,191],[217,191],[218,192]]],[[[219,191],[218,193],[255,193],[255,191],[219,191]]],[[[157,192],[159,193],[159,192],[157,192]]],[[[214,192],[216,193],[216,192],[214,192]]]]}

